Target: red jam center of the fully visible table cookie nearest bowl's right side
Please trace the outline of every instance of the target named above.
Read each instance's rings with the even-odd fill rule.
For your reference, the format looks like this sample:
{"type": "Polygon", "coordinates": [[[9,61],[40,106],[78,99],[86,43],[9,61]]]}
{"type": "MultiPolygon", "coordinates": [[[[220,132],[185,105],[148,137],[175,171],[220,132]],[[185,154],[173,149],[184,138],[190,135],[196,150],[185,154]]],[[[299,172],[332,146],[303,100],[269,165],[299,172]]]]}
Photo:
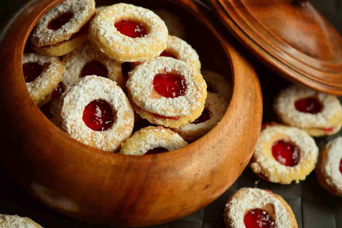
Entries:
{"type": "Polygon", "coordinates": [[[273,157],[281,164],[286,166],[295,166],[299,162],[299,148],[284,140],[275,142],[272,146],[273,157]]]}

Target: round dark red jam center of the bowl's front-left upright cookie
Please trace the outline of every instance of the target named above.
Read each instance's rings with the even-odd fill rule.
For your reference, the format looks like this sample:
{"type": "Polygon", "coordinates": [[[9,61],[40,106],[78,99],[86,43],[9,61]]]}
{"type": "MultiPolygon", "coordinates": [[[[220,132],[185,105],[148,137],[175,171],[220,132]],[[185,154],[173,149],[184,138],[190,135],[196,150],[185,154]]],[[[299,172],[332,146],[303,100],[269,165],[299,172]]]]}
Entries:
{"type": "Polygon", "coordinates": [[[84,108],[83,121],[94,131],[106,131],[114,122],[113,111],[104,100],[93,100],[84,108]]]}

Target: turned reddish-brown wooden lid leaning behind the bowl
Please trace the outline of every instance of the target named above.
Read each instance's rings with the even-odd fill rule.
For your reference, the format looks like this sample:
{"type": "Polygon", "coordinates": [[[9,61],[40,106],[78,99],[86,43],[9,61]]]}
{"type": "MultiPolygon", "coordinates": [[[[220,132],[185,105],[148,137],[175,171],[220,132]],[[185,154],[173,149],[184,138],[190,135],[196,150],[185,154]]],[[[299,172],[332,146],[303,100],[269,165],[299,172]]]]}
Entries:
{"type": "Polygon", "coordinates": [[[341,37],[310,2],[210,2],[224,25],[280,75],[342,95],[341,37]]]}

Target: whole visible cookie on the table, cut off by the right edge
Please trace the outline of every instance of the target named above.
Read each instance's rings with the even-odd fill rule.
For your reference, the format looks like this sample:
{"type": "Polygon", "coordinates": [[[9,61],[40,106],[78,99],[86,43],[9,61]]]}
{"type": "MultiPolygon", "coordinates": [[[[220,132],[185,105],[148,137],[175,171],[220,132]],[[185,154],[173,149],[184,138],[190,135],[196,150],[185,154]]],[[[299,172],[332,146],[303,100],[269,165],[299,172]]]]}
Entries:
{"type": "Polygon", "coordinates": [[[320,153],[316,175],[320,185],[342,197],[342,137],[330,141],[320,153]]]}

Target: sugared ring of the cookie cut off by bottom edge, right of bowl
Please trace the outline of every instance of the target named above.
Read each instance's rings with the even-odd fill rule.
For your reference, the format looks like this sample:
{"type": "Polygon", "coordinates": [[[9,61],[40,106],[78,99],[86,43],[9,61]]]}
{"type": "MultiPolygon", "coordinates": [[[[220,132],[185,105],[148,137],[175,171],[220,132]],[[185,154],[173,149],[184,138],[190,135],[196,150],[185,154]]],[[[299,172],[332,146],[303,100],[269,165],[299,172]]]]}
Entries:
{"type": "MultiPolygon", "coordinates": [[[[241,188],[225,205],[225,222],[230,227],[244,228],[244,218],[248,211],[252,209],[264,208],[267,204],[274,207],[274,223],[277,228],[292,228],[292,214],[275,194],[258,188],[241,188]]],[[[297,226],[295,226],[297,227],[297,226]]]]}

